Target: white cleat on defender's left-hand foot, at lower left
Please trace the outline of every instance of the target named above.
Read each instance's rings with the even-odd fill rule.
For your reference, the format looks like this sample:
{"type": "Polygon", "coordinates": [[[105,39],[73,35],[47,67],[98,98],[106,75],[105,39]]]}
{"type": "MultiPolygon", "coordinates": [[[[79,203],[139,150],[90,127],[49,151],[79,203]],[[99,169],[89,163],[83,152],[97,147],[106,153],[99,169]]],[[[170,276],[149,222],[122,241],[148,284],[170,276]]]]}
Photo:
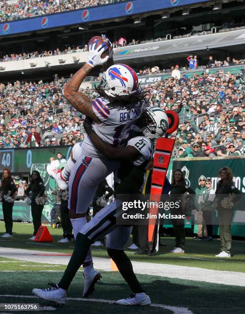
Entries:
{"type": "Polygon", "coordinates": [[[41,299],[53,301],[55,303],[65,303],[66,302],[66,290],[61,289],[58,285],[53,283],[48,283],[52,288],[47,289],[33,289],[32,293],[41,299]]]}

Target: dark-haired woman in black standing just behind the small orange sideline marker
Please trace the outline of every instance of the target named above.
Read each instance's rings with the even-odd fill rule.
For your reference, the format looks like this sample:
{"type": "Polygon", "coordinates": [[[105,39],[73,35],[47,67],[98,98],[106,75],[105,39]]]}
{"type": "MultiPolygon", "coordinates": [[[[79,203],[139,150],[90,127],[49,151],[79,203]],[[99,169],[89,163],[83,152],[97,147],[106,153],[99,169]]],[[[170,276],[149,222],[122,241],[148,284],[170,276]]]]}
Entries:
{"type": "Polygon", "coordinates": [[[32,171],[31,173],[31,182],[26,189],[26,195],[31,199],[31,215],[34,226],[33,236],[29,240],[34,240],[37,230],[42,225],[42,211],[44,205],[36,204],[35,198],[37,196],[42,196],[45,192],[45,186],[43,183],[43,179],[40,176],[39,171],[32,171]],[[31,193],[30,193],[31,192],[31,193]]]}

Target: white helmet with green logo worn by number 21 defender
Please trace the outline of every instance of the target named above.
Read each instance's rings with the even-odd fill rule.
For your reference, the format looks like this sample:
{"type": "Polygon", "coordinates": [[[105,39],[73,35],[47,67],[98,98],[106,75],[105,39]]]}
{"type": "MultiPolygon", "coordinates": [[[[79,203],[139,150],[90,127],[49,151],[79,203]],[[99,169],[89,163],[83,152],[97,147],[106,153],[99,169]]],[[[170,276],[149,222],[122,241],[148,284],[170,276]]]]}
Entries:
{"type": "Polygon", "coordinates": [[[143,129],[144,136],[148,139],[161,138],[168,129],[168,117],[166,113],[158,107],[148,107],[143,111],[143,118],[147,123],[143,129]]]}

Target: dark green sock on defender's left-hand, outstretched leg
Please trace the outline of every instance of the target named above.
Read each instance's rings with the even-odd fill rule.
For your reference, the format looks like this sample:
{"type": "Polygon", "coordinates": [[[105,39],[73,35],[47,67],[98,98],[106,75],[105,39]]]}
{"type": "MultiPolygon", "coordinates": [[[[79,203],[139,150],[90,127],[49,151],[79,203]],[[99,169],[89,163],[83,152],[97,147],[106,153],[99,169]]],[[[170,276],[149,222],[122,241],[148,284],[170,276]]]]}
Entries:
{"type": "Polygon", "coordinates": [[[64,290],[68,289],[77,271],[85,261],[91,243],[92,243],[91,240],[85,237],[84,234],[80,232],[77,234],[72,256],[66,267],[63,277],[61,278],[61,281],[58,284],[60,288],[64,290]]]}

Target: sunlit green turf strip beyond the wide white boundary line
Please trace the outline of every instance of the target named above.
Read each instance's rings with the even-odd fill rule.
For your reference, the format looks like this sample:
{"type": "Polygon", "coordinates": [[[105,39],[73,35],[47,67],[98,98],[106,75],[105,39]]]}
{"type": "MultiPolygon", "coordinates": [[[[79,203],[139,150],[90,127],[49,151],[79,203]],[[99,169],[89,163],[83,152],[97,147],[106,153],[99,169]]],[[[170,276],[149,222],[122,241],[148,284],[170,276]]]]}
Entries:
{"type": "MultiPolygon", "coordinates": [[[[38,245],[28,240],[33,232],[32,224],[14,223],[13,238],[0,240],[0,246],[71,253],[73,247],[72,243],[57,243],[57,241],[62,238],[62,229],[53,229],[49,226],[48,229],[54,242],[38,245]]],[[[1,231],[4,232],[3,222],[0,222],[0,233],[1,231]]],[[[130,250],[127,250],[127,252],[130,259],[133,261],[245,272],[244,241],[233,241],[232,252],[234,256],[231,259],[220,259],[224,262],[218,262],[217,260],[219,259],[214,257],[215,254],[218,254],[220,251],[219,240],[203,242],[186,238],[185,254],[178,255],[169,253],[174,247],[174,238],[162,238],[161,242],[166,243],[167,246],[160,247],[159,254],[155,257],[136,256],[134,252],[130,252],[130,250]]],[[[105,248],[93,248],[92,252],[95,257],[108,258],[105,248]]],[[[0,270],[2,269],[1,267],[2,265],[0,265],[0,270]]]]}

